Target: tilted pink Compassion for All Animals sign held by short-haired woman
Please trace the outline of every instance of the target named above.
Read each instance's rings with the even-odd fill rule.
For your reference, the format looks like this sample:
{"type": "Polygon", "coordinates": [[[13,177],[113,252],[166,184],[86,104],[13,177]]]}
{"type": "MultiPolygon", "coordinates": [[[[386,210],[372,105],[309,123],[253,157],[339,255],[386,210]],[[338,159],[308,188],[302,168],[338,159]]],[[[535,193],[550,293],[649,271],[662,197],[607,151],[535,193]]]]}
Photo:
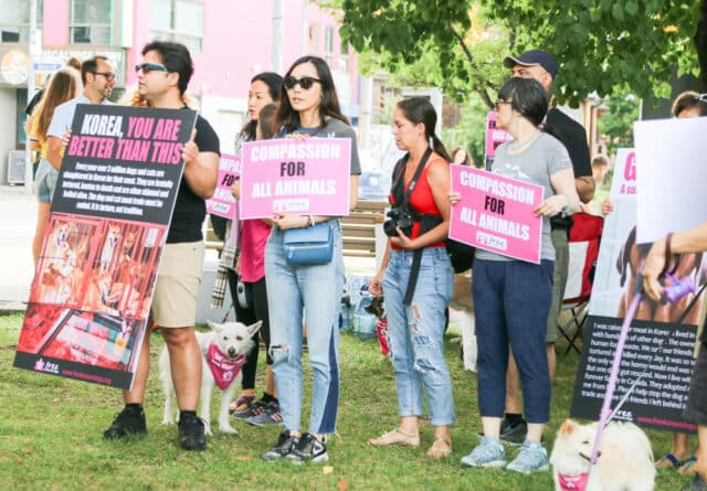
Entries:
{"type": "Polygon", "coordinates": [[[452,207],[450,238],[540,263],[542,217],[532,212],[544,198],[538,184],[452,164],[452,190],[462,199],[452,207]]]}

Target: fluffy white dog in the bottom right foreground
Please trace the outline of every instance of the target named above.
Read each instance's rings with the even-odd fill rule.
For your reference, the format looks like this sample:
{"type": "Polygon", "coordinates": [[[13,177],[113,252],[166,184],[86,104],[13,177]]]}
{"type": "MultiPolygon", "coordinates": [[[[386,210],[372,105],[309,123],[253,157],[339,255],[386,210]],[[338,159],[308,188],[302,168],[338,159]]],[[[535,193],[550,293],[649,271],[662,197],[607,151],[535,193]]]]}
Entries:
{"type": "Polygon", "coordinates": [[[604,428],[597,466],[589,474],[597,423],[567,419],[558,431],[550,463],[556,491],[652,491],[655,466],[648,437],[632,423],[604,428]]]}

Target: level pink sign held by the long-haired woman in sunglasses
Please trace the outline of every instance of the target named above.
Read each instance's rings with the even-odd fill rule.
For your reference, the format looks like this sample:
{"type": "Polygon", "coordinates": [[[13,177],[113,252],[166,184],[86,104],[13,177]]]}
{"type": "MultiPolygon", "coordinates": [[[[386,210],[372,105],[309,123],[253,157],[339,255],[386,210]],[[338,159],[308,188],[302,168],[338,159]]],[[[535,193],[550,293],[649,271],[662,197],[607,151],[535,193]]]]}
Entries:
{"type": "Polygon", "coordinates": [[[349,214],[351,140],[292,138],[243,143],[242,220],[276,213],[349,214]]]}

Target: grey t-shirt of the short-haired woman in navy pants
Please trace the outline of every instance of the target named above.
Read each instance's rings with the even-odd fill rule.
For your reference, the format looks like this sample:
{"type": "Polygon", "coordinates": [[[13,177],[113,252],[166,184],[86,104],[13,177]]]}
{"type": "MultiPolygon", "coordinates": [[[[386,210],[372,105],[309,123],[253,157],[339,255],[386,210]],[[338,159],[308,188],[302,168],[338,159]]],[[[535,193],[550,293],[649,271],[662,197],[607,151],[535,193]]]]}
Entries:
{"type": "MultiPolygon", "coordinates": [[[[545,189],[542,199],[556,194],[550,183],[550,175],[559,170],[571,168],[572,162],[567,149],[551,135],[540,134],[523,152],[510,154],[508,147],[513,142],[504,143],[496,149],[496,158],[492,171],[506,178],[539,184],[545,189]]],[[[476,258],[486,260],[515,260],[508,256],[476,249],[476,258]]],[[[550,220],[542,218],[542,238],[540,242],[540,259],[555,260],[555,247],[550,239],[550,220]]]]}

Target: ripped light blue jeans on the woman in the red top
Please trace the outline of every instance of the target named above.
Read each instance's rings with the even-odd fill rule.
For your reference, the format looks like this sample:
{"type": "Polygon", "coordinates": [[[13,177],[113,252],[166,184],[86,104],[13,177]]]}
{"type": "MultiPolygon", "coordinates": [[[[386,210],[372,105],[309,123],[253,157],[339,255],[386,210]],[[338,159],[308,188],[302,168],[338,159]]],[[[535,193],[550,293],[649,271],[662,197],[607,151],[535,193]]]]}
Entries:
{"type": "Polygon", "coordinates": [[[403,297],[413,254],[412,250],[390,249],[383,277],[398,412],[401,417],[421,416],[424,386],[430,421],[434,426],[446,426],[454,423],[454,402],[443,338],[454,273],[444,247],[425,248],[412,301],[405,306],[403,297]]]}

